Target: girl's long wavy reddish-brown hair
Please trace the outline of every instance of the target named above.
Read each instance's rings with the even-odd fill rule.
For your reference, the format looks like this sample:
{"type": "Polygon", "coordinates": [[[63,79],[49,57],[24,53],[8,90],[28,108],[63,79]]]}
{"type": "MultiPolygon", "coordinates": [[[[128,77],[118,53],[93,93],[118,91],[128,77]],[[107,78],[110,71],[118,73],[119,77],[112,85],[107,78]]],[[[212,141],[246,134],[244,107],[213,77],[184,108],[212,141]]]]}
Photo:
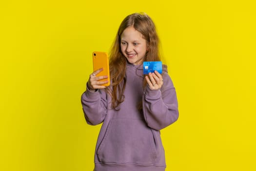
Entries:
{"type": "MultiPolygon", "coordinates": [[[[112,108],[118,110],[118,105],[124,101],[124,89],[126,85],[126,58],[123,56],[120,49],[120,40],[123,31],[127,27],[134,27],[139,31],[143,38],[147,41],[148,52],[146,53],[143,61],[160,61],[159,57],[159,38],[156,31],[156,26],[152,19],[145,13],[134,13],[128,15],[120,24],[118,33],[111,46],[109,53],[110,58],[110,79],[112,81],[112,90],[107,87],[107,92],[112,96],[112,108]]],[[[144,78],[144,86],[146,80],[144,78]]],[[[140,105],[139,105],[140,106],[140,105]]],[[[141,107],[139,107],[141,108],[141,107]]]]}

